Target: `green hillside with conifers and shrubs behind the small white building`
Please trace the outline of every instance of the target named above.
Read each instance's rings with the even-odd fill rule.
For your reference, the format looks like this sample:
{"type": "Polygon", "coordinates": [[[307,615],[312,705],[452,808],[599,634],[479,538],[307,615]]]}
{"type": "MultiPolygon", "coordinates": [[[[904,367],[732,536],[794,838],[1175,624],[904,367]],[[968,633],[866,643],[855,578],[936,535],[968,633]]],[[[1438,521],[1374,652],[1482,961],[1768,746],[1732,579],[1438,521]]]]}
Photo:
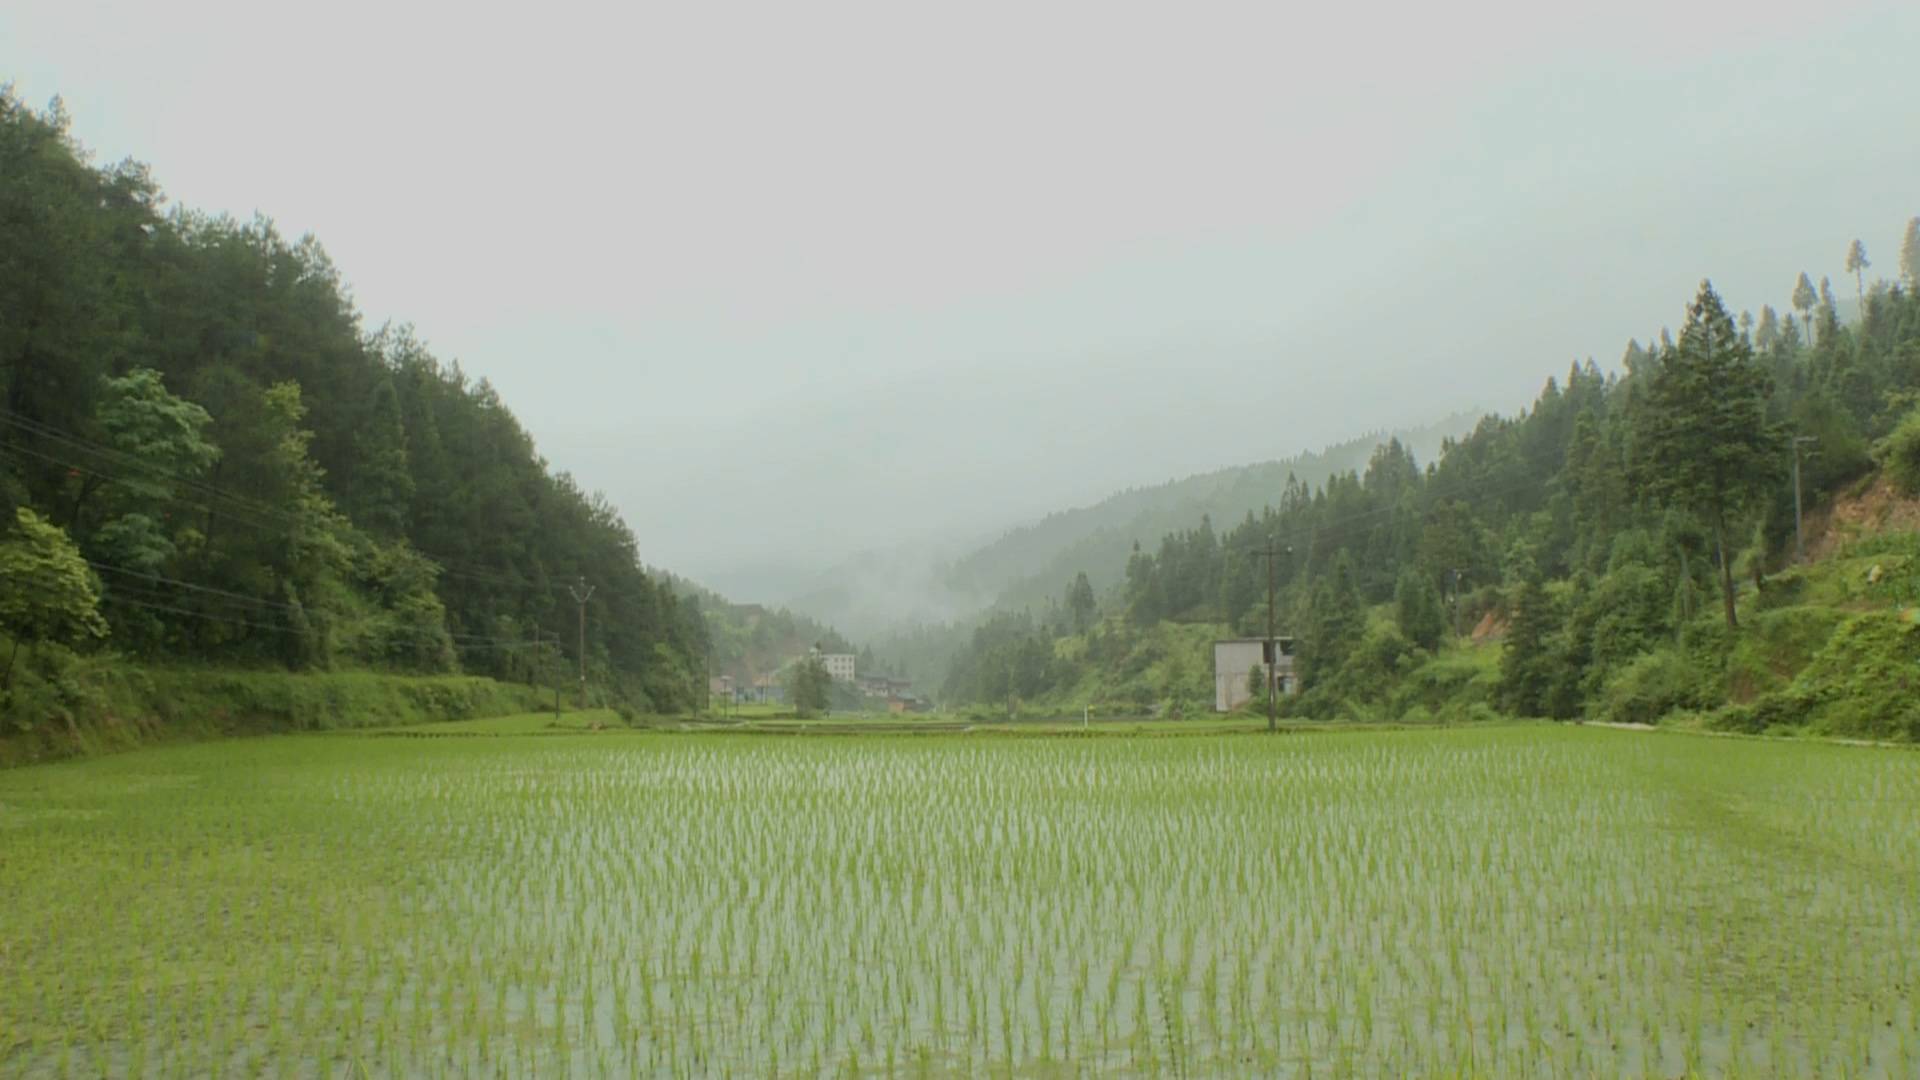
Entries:
{"type": "Polygon", "coordinates": [[[1920,536],[1830,536],[1809,565],[1795,477],[1809,507],[1876,482],[1920,494],[1920,219],[1897,281],[1868,279],[1859,242],[1843,265],[1851,323],[1826,279],[1799,275],[1784,315],[1738,317],[1703,282],[1678,336],[1549,379],[1438,461],[1388,442],[1260,515],[1169,532],[1133,552],[1104,611],[1085,580],[1056,580],[1041,615],[975,630],[947,696],[1206,707],[1206,640],[1265,625],[1271,542],[1298,715],[1680,711],[1916,738],[1920,536]],[[1169,642],[1179,625],[1198,632],[1169,642]]]}

